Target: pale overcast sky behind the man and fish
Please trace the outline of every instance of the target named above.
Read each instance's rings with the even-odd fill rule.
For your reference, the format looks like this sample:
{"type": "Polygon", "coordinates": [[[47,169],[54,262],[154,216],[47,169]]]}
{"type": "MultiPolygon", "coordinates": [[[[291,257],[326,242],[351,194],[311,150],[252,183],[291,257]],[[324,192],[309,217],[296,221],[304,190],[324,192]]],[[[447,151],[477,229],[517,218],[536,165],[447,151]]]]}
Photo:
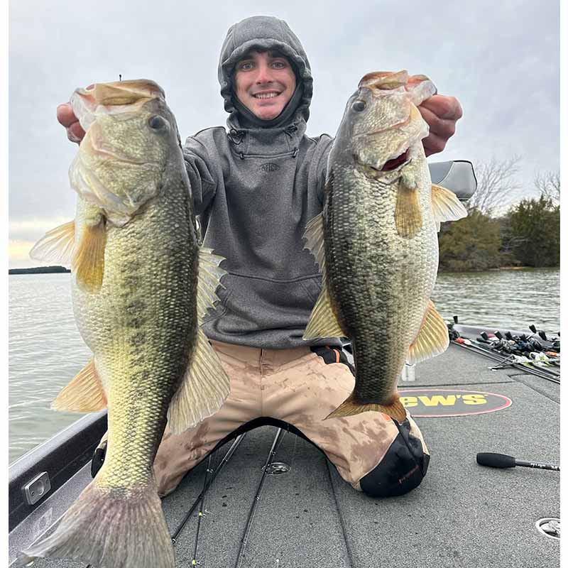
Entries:
{"type": "Polygon", "coordinates": [[[302,41],[314,76],[307,133],[334,134],[373,70],[428,75],[464,118],[430,161],[520,155],[523,195],[559,170],[559,2],[503,0],[18,0],[10,6],[10,266],[37,266],[31,245],[74,216],[67,170],[77,146],[55,108],[92,82],[152,79],[182,137],[224,125],[219,49],[231,24],[277,16],[302,41]]]}

